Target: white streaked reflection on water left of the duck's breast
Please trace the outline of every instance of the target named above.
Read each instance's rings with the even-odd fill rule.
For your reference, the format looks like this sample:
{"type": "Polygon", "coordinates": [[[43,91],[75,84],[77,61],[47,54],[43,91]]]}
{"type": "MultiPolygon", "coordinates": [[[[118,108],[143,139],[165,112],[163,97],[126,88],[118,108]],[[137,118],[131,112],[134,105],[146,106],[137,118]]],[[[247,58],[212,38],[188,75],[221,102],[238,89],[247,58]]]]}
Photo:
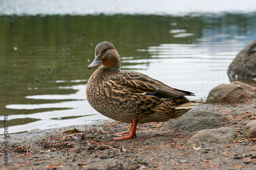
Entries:
{"type": "MultiPolygon", "coordinates": [[[[63,82],[63,81],[60,81],[63,82]]],[[[77,82],[77,81],[74,81],[77,82]]],[[[80,81],[79,81],[80,82],[80,81]]],[[[60,88],[73,88],[78,90],[74,94],[49,94],[49,95],[32,95],[26,96],[28,99],[42,99],[42,100],[59,100],[59,99],[74,99],[75,101],[48,103],[48,104],[23,104],[23,105],[7,105],[8,109],[40,109],[40,108],[64,108],[67,110],[53,110],[47,112],[39,112],[33,114],[17,114],[11,115],[9,120],[21,121],[24,117],[36,119],[25,125],[12,126],[12,132],[23,132],[34,129],[49,129],[61,128],[65,126],[84,125],[95,122],[95,120],[103,119],[104,116],[98,114],[88,102],[86,102],[86,95],[84,95],[85,85],[75,85],[72,87],[60,88]]],[[[27,118],[26,118],[27,119],[27,118]]]]}

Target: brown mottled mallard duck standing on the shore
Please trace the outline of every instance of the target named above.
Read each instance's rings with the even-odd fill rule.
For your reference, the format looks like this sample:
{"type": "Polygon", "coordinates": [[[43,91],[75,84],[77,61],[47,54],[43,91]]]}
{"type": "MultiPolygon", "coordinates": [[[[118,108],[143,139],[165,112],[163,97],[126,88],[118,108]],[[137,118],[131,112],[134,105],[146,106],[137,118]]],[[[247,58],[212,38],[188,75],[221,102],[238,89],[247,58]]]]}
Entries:
{"type": "Polygon", "coordinates": [[[199,103],[184,95],[189,91],[172,88],[137,71],[120,71],[121,61],[114,45],[104,41],[95,48],[95,59],[88,66],[100,66],[88,80],[87,100],[99,113],[131,123],[129,132],[117,133],[115,140],[136,137],[138,123],[165,122],[183,115],[199,103]]]}

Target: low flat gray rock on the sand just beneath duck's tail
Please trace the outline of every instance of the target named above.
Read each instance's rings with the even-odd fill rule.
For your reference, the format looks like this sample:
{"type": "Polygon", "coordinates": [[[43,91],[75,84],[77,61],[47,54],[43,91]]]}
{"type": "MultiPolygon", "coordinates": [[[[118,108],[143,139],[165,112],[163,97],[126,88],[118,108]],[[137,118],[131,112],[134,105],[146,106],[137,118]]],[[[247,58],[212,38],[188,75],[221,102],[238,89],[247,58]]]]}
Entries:
{"type": "Polygon", "coordinates": [[[219,113],[204,110],[190,110],[180,117],[168,120],[163,124],[163,127],[195,131],[212,126],[220,127],[222,123],[229,123],[229,119],[219,113]]]}

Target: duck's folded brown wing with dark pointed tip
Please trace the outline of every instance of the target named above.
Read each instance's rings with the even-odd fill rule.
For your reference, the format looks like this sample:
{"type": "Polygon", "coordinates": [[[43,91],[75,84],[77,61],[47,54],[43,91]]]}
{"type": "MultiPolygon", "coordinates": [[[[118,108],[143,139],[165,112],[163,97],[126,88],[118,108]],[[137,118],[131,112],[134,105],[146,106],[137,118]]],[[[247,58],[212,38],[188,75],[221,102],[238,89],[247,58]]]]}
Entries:
{"type": "Polygon", "coordinates": [[[184,95],[194,95],[189,91],[172,88],[137,71],[121,71],[113,76],[110,82],[130,89],[134,93],[154,94],[158,98],[173,99],[184,95]]]}

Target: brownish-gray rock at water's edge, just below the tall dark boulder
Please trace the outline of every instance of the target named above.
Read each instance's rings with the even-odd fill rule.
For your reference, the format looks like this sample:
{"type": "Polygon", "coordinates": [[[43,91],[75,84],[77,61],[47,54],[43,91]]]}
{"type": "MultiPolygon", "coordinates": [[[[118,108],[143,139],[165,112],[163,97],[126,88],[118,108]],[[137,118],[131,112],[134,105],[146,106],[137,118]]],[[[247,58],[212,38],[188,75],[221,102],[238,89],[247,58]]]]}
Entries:
{"type": "MultiPolygon", "coordinates": [[[[251,87],[242,82],[234,82],[231,84],[221,84],[210,90],[207,96],[207,103],[242,103],[248,102],[252,94],[247,91],[251,87]],[[243,86],[244,87],[243,87],[243,86]],[[246,89],[245,89],[246,88],[246,89]]],[[[251,87],[253,88],[253,87],[251,87]]]]}

